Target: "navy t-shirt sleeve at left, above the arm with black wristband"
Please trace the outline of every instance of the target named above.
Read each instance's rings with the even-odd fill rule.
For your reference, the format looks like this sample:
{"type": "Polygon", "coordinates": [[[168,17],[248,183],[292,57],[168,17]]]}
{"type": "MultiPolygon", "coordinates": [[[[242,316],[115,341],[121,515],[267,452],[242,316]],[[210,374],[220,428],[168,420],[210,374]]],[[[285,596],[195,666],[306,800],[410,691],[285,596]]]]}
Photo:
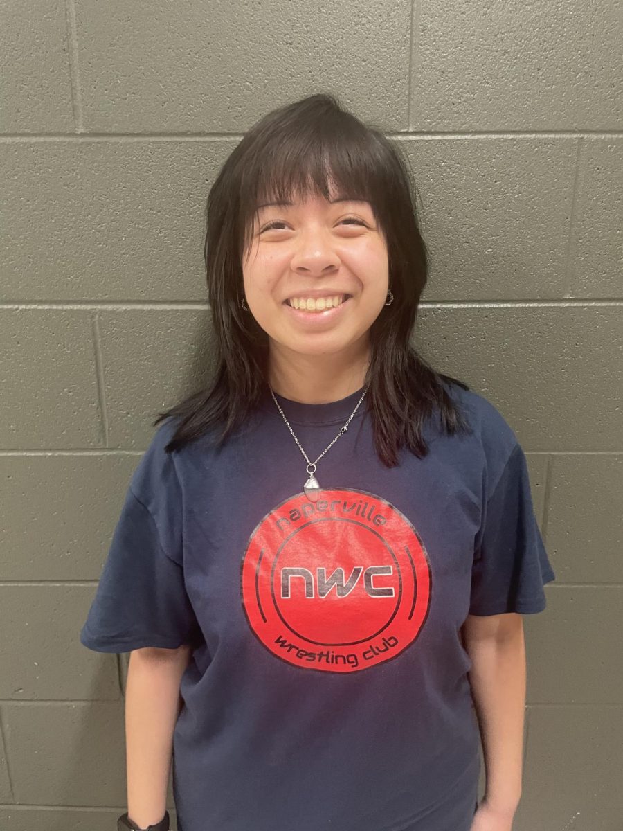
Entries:
{"type": "Polygon", "coordinates": [[[81,629],[82,645],[96,652],[196,647],[203,637],[185,588],[181,539],[179,549],[168,550],[179,527],[173,519],[167,522],[167,517],[177,514],[178,494],[173,463],[162,461],[157,446],[161,440],[162,434],[144,455],[125,494],[96,595],[81,629]],[[135,487],[148,493],[138,496],[135,487]]]}

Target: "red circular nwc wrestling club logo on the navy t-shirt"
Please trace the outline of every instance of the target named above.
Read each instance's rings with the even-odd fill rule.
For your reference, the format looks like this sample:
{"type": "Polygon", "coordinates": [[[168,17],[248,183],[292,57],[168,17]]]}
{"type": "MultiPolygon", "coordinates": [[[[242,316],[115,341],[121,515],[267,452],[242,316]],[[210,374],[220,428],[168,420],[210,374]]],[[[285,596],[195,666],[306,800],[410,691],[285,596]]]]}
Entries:
{"type": "Polygon", "coordinates": [[[282,661],[356,672],[390,661],[429,612],[429,559],[393,505],[356,489],[286,499],[254,529],[241,594],[249,626],[282,661]]]}

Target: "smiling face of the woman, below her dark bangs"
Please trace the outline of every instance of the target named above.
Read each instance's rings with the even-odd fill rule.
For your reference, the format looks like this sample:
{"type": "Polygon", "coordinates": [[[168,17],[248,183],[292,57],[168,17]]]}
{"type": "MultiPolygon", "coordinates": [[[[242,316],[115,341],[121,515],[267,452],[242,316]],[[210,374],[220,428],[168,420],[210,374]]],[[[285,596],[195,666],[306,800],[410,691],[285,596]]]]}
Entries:
{"type": "Polygon", "coordinates": [[[385,234],[372,206],[322,196],[263,205],[243,261],[243,283],[271,352],[336,357],[366,352],[389,283],[385,234]],[[324,310],[317,308],[318,298],[336,295],[337,307],[325,301],[324,310]],[[298,309],[291,298],[300,301],[294,301],[298,309]]]}

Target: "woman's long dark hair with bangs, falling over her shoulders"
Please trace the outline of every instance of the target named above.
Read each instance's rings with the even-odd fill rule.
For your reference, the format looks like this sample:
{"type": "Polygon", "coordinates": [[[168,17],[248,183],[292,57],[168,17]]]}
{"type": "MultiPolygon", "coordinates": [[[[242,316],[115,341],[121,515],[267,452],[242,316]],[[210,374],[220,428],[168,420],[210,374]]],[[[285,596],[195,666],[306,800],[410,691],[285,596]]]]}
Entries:
{"type": "Polygon", "coordinates": [[[468,430],[446,384],[469,387],[435,371],[410,342],[429,253],[419,233],[416,190],[406,155],[380,128],[364,125],[330,94],[309,96],[269,112],[243,136],[208,195],[205,266],[216,337],[217,368],[204,390],[169,411],[179,424],[165,450],[179,450],[213,427],[218,446],[257,410],[268,389],[268,336],[243,311],[243,257],[263,201],[307,194],[330,198],[330,181],[351,199],[370,202],[385,234],[394,302],[370,327],[370,365],[364,384],[375,449],[387,467],[406,445],[428,453],[424,420],[439,410],[450,435],[468,430]],[[260,201],[262,200],[262,201],[260,201]]]}

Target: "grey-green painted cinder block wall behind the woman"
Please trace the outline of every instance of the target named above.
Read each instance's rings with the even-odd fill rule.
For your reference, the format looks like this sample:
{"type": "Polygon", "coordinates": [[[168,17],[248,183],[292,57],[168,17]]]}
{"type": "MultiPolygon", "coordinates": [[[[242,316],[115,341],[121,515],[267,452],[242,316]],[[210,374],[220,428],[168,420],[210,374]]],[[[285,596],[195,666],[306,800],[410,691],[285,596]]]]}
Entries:
{"type": "Polygon", "coordinates": [[[151,420],[209,371],[209,184],[253,120],[333,91],[409,152],[433,254],[417,337],[517,431],[557,573],[524,617],[513,829],[619,829],[619,2],[0,13],[0,828],[125,810],[125,657],[87,651],[81,623],[151,420]]]}

